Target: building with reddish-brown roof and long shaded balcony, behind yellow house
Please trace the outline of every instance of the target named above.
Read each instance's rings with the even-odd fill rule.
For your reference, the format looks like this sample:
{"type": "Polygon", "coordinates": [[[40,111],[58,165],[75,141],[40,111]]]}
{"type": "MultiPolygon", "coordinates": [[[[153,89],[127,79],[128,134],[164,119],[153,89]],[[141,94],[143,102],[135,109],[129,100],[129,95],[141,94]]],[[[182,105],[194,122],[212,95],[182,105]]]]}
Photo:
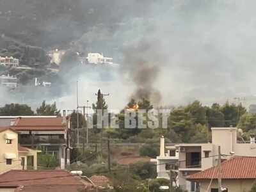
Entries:
{"type": "Polygon", "coordinates": [[[61,169],[69,164],[69,124],[65,115],[63,118],[56,116],[20,116],[15,120],[10,119],[10,127],[19,131],[19,144],[22,147],[36,148],[56,156],[61,169]]]}

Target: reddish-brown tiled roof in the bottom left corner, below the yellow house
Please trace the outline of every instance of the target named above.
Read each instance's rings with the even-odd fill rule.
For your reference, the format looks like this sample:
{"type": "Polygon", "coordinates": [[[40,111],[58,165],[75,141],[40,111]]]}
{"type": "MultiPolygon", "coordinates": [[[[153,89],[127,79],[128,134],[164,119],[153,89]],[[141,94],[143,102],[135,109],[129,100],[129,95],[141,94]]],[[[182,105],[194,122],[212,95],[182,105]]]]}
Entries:
{"type": "MultiPolygon", "coordinates": [[[[77,186],[86,188],[89,182],[65,170],[10,170],[0,175],[0,188],[8,186],[77,186]]],[[[64,188],[64,187],[63,187],[64,188]]]]}

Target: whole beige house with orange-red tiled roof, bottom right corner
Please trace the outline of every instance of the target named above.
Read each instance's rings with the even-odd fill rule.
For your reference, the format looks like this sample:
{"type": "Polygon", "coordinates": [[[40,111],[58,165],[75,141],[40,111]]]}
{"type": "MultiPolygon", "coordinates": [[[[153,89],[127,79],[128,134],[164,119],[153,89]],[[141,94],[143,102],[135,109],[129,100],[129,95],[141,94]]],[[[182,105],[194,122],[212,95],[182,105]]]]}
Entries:
{"type": "MultiPolygon", "coordinates": [[[[188,180],[200,183],[200,192],[218,191],[218,167],[189,175],[188,180]]],[[[256,157],[233,157],[221,163],[221,188],[227,191],[250,191],[256,181],[256,157]]]]}

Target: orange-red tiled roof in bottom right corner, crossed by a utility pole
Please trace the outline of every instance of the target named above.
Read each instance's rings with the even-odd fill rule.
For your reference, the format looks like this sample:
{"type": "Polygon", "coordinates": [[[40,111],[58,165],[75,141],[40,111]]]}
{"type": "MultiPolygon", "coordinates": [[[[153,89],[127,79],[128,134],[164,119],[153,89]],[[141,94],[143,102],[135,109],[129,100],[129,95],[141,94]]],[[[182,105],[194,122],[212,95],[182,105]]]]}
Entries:
{"type": "MultiPolygon", "coordinates": [[[[218,168],[189,175],[187,179],[218,179],[218,168]]],[[[256,179],[256,157],[234,157],[224,161],[221,163],[221,179],[256,179]]]]}

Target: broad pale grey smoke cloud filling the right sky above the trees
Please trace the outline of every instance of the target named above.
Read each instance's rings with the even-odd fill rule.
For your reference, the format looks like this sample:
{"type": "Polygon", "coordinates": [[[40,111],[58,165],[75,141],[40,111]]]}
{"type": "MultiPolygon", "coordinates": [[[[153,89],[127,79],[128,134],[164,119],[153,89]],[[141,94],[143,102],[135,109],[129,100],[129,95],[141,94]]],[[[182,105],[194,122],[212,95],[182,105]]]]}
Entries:
{"type": "MultiPolygon", "coordinates": [[[[153,98],[156,95],[153,100],[164,105],[184,104],[194,99],[211,104],[241,95],[256,95],[255,1],[134,0],[116,1],[118,4],[90,1],[91,7],[86,1],[79,2],[81,10],[87,7],[91,11],[77,13],[85,14],[92,22],[90,27],[76,28],[76,33],[82,35],[74,40],[72,49],[113,56],[122,73],[111,68],[104,74],[98,69],[91,75],[70,72],[68,78],[63,78],[70,89],[65,92],[61,88],[65,94],[57,98],[60,106],[76,106],[77,78],[84,87],[81,102],[87,98],[95,101],[93,94],[102,88],[111,93],[108,98],[111,108],[122,108],[134,95],[153,98]],[[103,11],[104,4],[108,9],[103,11]],[[113,19],[115,15],[120,19],[113,19]],[[112,74],[113,78],[105,81],[102,76],[106,74],[112,74]]],[[[47,19],[44,28],[48,24],[53,28],[56,20],[47,19]]],[[[72,29],[66,30],[67,26],[64,29],[67,34],[72,33],[72,29]]],[[[65,34],[60,38],[67,39],[65,34]]]]}

